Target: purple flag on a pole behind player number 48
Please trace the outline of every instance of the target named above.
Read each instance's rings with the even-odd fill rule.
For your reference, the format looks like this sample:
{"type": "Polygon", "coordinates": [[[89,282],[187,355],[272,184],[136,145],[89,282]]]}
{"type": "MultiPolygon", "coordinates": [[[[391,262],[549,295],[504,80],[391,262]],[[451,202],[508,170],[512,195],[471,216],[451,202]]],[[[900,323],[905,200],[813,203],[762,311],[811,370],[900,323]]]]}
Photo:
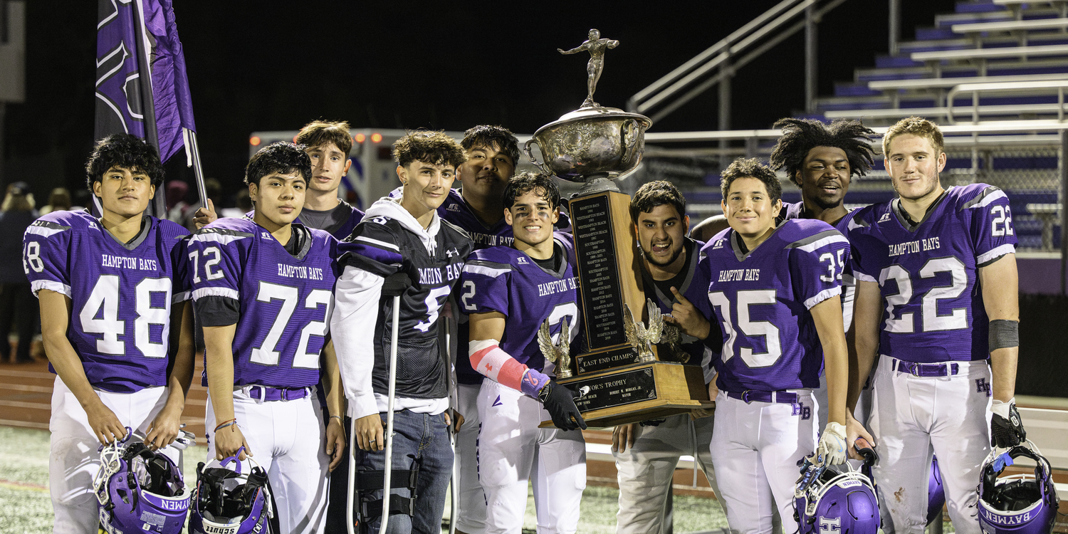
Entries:
{"type": "Polygon", "coordinates": [[[167,161],[184,144],[182,128],[195,131],[171,0],[97,5],[95,137],[132,134],[167,161]]]}

